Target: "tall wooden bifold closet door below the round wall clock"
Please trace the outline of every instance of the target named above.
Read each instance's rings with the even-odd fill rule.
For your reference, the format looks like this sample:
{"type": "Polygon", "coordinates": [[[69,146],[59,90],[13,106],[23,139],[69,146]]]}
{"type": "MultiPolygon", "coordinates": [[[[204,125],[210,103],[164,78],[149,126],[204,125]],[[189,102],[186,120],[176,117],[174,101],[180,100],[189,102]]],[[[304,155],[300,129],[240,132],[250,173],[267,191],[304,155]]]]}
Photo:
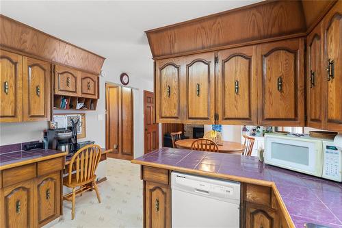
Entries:
{"type": "Polygon", "coordinates": [[[133,159],[133,90],[106,84],[106,148],[108,157],[133,159]]]}

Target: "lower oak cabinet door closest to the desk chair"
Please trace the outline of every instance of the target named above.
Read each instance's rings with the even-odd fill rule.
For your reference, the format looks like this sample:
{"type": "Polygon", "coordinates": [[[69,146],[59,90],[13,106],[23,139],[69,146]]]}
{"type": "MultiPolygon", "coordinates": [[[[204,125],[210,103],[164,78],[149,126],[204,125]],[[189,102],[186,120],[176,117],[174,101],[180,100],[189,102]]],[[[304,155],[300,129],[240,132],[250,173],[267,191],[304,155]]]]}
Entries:
{"type": "Polygon", "coordinates": [[[36,221],[39,227],[60,216],[60,186],[60,172],[36,180],[36,221]]]}

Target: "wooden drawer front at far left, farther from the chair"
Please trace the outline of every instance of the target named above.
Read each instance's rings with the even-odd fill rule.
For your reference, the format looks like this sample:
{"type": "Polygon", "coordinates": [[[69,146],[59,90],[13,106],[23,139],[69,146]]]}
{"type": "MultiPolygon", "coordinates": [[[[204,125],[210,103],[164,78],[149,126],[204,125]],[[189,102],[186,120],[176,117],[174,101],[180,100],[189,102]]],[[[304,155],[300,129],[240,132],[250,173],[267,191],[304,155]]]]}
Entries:
{"type": "Polygon", "coordinates": [[[3,170],[3,187],[36,177],[36,163],[3,170]]]}

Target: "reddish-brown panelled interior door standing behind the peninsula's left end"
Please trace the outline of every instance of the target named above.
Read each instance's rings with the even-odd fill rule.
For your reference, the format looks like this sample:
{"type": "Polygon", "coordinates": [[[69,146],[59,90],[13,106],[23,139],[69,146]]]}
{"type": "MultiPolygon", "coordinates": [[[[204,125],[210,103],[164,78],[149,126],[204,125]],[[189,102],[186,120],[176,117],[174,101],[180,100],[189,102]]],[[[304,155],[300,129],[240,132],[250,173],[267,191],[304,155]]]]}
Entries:
{"type": "Polygon", "coordinates": [[[155,119],[155,96],[144,91],[144,154],[159,148],[159,124],[155,119]]]}

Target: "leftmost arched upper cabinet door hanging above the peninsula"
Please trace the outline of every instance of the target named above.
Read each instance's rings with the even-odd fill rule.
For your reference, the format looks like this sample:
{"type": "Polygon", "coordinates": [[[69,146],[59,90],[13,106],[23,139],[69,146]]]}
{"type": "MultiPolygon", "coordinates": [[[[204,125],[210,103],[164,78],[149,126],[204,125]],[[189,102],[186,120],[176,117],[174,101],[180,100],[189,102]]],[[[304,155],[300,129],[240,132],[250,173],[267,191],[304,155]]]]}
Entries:
{"type": "Polygon", "coordinates": [[[155,63],[155,105],[158,123],[182,121],[182,65],[183,58],[157,60],[155,63]]]}

